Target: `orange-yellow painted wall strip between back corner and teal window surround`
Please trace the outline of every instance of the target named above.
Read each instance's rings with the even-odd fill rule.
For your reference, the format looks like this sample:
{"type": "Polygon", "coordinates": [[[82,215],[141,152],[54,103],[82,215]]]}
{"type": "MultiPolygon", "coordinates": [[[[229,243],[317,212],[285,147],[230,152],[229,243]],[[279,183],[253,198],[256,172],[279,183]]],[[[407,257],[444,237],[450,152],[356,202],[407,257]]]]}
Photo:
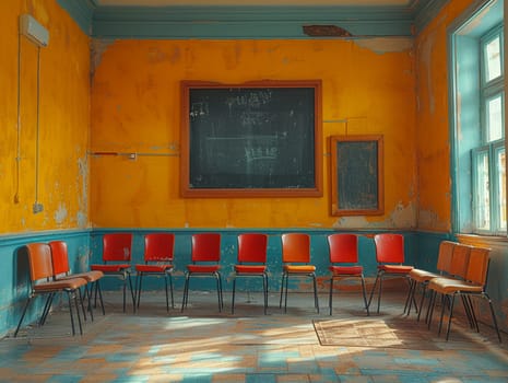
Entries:
{"type": "Polygon", "coordinates": [[[418,229],[451,231],[447,27],[473,0],[453,0],[417,36],[418,229]]]}

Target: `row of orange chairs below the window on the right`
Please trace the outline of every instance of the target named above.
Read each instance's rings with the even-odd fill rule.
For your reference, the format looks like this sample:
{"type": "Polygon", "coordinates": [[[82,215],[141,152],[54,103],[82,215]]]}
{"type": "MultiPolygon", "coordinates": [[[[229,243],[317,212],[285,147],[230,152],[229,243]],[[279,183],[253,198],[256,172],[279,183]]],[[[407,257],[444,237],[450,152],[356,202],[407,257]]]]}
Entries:
{"type": "Polygon", "coordinates": [[[475,328],[476,332],[480,332],[480,327],[471,298],[482,298],[488,302],[492,321],[500,343],[501,337],[493,303],[485,291],[488,275],[489,253],[491,249],[488,248],[470,246],[451,241],[442,241],[439,245],[437,257],[437,272],[425,269],[413,269],[409,272],[411,287],[407,293],[404,312],[410,315],[415,292],[420,287],[422,290],[417,315],[417,321],[420,321],[426,292],[429,291],[430,298],[427,305],[425,321],[428,328],[430,328],[436,299],[439,294],[441,297],[441,313],[439,317],[438,334],[441,333],[445,311],[448,307],[448,326],[446,333],[446,339],[448,340],[456,298],[461,298],[469,324],[471,328],[475,328]]]}

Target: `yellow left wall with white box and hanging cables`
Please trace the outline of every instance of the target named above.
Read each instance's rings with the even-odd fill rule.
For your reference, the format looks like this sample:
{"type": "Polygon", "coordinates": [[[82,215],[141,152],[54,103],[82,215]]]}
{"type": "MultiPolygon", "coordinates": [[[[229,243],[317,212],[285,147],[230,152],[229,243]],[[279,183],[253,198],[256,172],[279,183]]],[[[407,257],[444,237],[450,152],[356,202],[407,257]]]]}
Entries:
{"type": "Polygon", "coordinates": [[[90,39],[56,0],[1,1],[0,14],[0,233],[87,228],[90,39]],[[38,183],[37,47],[21,38],[19,81],[23,13],[49,31],[40,48],[38,183]],[[44,210],[35,214],[36,194],[44,210]]]}

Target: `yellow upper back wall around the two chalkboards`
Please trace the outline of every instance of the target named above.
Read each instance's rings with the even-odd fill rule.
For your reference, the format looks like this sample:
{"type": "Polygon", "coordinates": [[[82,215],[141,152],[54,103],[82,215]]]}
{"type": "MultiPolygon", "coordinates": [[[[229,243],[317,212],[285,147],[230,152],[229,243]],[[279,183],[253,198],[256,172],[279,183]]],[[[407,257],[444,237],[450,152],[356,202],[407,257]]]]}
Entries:
{"type": "Polygon", "coordinates": [[[416,93],[411,40],[93,43],[91,223],[97,228],[416,225],[416,93]],[[323,197],[179,196],[180,80],[322,80],[323,197]],[[385,136],[385,214],[331,217],[327,138],[385,136]],[[143,154],[163,155],[143,155],[143,154]]]}

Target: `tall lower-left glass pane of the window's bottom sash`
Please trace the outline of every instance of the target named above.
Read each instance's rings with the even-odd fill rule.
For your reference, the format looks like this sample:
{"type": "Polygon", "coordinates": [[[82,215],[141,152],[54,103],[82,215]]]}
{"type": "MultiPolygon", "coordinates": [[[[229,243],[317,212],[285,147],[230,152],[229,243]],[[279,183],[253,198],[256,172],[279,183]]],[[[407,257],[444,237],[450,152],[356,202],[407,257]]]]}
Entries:
{"type": "Polygon", "coordinates": [[[476,162],[476,228],[491,230],[491,194],[488,192],[488,153],[479,153],[476,162]]]}

